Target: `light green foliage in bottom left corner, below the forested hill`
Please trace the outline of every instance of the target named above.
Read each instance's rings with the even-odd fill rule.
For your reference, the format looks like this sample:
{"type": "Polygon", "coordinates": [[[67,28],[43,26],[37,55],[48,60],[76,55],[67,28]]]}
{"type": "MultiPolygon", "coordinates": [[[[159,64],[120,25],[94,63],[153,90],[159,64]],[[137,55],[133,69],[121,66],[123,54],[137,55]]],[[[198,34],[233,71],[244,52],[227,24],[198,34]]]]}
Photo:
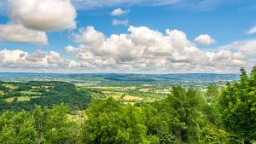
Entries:
{"type": "Polygon", "coordinates": [[[35,107],[33,114],[3,112],[0,115],[0,143],[77,144],[81,143],[79,124],[67,118],[68,108],[35,107]]]}

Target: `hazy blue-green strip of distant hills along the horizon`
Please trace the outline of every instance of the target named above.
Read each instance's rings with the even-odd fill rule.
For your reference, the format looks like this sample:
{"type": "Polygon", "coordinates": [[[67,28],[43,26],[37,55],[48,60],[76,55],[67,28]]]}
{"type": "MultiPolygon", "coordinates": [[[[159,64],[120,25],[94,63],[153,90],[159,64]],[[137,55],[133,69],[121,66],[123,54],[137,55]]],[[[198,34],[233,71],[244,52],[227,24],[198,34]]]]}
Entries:
{"type": "Polygon", "coordinates": [[[238,80],[238,74],[184,73],[184,74],[126,74],[126,73],[9,73],[0,72],[0,80],[7,82],[63,81],[73,84],[224,84],[238,80]]]}

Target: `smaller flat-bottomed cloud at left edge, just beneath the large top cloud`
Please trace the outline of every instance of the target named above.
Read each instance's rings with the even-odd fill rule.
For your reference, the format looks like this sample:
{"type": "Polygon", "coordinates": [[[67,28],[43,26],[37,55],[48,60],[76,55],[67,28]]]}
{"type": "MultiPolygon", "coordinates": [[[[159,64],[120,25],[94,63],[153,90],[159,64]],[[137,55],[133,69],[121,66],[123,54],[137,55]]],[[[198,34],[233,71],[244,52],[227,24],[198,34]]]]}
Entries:
{"type": "Polygon", "coordinates": [[[39,32],[19,24],[0,25],[0,39],[4,41],[14,41],[20,43],[47,44],[45,32],[39,32]]]}

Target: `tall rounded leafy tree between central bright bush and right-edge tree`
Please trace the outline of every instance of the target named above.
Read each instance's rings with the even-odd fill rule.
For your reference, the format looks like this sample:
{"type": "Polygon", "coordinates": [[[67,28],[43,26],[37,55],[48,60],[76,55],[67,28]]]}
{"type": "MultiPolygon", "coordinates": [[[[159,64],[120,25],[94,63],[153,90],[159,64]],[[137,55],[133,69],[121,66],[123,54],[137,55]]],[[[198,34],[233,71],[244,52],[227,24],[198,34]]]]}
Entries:
{"type": "Polygon", "coordinates": [[[203,99],[194,89],[172,88],[172,95],[164,101],[163,109],[170,112],[168,123],[172,133],[185,143],[197,143],[204,124],[201,106],[203,99]]]}

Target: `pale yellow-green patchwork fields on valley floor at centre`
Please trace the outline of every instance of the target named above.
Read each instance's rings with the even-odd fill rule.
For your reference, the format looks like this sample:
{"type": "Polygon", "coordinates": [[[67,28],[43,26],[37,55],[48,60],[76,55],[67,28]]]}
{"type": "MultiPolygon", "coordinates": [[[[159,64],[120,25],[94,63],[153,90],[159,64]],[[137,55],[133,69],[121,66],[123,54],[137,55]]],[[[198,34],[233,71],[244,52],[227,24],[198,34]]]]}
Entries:
{"type": "Polygon", "coordinates": [[[113,97],[113,99],[121,101],[123,104],[131,105],[163,100],[172,91],[172,87],[155,87],[148,84],[124,87],[79,84],[79,87],[101,91],[102,99],[113,97]]]}

